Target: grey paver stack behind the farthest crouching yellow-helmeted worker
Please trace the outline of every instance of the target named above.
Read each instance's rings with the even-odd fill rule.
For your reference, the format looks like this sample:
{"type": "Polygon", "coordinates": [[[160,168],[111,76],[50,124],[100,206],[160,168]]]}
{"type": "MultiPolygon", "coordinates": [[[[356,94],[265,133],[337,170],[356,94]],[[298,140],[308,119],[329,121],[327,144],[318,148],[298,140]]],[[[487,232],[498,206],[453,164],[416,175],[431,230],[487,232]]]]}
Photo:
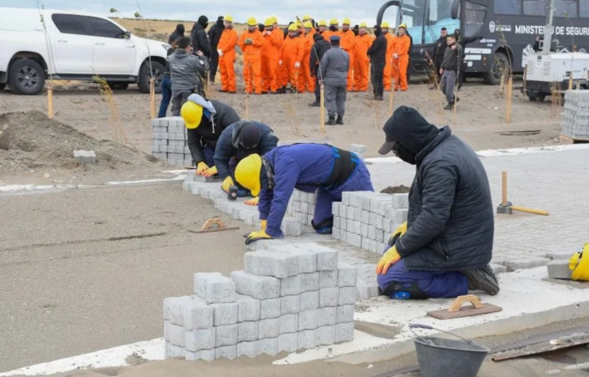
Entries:
{"type": "Polygon", "coordinates": [[[192,166],[182,117],[158,118],[151,121],[151,154],[166,160],[170,165],[192,166]]]}

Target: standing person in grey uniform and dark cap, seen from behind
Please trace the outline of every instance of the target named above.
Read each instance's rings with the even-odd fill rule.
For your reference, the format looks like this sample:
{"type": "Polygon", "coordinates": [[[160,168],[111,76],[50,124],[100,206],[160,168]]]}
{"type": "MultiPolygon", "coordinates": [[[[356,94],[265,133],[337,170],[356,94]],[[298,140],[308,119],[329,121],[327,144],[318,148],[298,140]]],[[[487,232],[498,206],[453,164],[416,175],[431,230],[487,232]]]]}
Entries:
{"type": "Polygon", "coordinates": [[[348,68],[350,56],[339,47],[339,35],[329,37],[332,48],[321,59],[321,78],[325,85],[325,107],[327,108],[327,125],[343,124],[346,110],[346,85],[348,85],[348,68]],[[337,120],[336,120],[337,114],[337,120]]]}

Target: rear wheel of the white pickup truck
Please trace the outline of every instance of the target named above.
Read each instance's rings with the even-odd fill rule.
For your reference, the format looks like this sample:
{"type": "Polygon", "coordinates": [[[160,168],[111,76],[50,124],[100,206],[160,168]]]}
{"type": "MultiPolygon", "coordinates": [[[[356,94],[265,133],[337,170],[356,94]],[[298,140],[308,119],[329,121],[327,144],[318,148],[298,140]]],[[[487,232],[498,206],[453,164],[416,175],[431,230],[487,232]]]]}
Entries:
{"type": "Polygon", "coordinates": [[[15,94],[38,94],[45,85],[45,71],[38,62],[18,59],[8,71],[8,86],[15,94]]]}

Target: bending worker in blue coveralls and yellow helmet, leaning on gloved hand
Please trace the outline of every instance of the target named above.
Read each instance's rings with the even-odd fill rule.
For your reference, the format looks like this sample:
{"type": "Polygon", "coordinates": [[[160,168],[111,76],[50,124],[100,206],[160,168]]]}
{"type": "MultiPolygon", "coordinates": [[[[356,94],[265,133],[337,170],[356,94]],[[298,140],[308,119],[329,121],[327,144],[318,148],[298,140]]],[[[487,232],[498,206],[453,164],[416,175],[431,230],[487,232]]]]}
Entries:
{"type": "Polygon", "coordinates": [[[373,191],[368,168],[356,154],[326,144],[293,144],[274,148],[265,156],[252,154],[237,164],[241,186],[260,194],[262,230],[247,236],[246,244],[282,238],[280,230],[294,189],[317,191],[312,225],[319,234],[332,233],[332,203],[343,191],[373,191]]]}

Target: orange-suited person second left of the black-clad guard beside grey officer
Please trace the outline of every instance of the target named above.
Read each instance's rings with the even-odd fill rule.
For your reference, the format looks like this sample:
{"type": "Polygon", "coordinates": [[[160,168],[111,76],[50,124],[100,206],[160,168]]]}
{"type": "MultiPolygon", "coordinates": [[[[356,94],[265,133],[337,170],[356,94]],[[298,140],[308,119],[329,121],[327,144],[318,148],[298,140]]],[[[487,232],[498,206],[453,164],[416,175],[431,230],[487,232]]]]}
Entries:
{"type": "MultiPolygon", "coordinates": [[[[295,24],[289,26],[289,36],[282,44],[282,56],[279,64],[282,67],[281,88],[277,93],[286,93],[286,84],[290,81],[292,90],[299,84],[299,72],[303,54],[305,53],[305,40],[299,36],[299,29],[295,24]]],[[[299,93],[302,90],[299,90],[299,93]]]]}

